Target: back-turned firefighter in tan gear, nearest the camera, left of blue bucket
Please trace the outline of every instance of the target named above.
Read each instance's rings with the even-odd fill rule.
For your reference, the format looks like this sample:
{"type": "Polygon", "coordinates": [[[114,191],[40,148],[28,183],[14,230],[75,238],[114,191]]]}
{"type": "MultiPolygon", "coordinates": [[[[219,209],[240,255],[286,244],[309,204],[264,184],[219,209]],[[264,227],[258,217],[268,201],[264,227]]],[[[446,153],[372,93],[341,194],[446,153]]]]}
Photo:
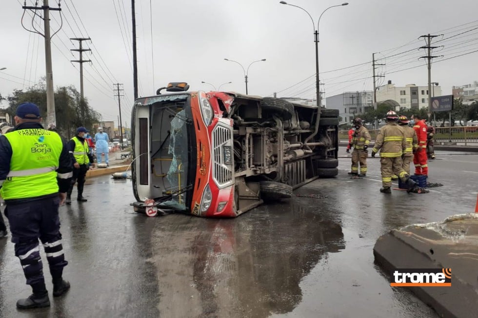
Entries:
{"type": "Polygon", "coordinates": [[[382,193],[392,193],[392,175],[395,173],[403,183],[408,185],[407,192],[411,192],[416,183],[410,179],[410,175],[403,170],[401,155],[407,148],[407,142],[403,130],[397,125],[398,115],[389,111],[385,115],[387,124],[380,128],[375,145],[372,149],[372,157],[380,150],[380,171],[382,174],[382,193]]]}

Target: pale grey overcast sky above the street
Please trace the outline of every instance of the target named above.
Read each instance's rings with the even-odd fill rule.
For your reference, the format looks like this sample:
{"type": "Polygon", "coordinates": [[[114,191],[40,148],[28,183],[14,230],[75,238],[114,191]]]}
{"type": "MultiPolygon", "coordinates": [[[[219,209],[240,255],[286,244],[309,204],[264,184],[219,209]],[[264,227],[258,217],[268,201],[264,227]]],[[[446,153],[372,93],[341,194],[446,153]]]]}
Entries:
{"type": "MultiPolygon", "coordinates": [[[[57,0],[58,1],[58,0],[57,0]]],[[[2,0],[0,11],[0,94],[26,89],[45,74],[43,37],[22,28],[23,0],[2,0]]],[[[315,25],[320,14],[340,0],[290,0],[309,12],[315,25]]],[[[43,3],[39,0],[39,5],[43,3]]],[[[33,5],[27,0],[27,5],[33,5]]],[[[57,7],[56,0],[50,0],[57,7]]],[[[84,94],[103,120],[117,120],[118,100],[113,83],[124,84],[122,121],[129,126],[133,104],[130,0],[62,0],[63,26],[52,38],[54,86],[80,89],[78,41],[91,37],[84,59],[84,94]]],[[[441,46],[433,53],[432,81],[443,94],[452,86],[478,80],[477,0],[350,0],[320,19],[319,66],[325,96],[372,90],[372,53],[379,83],[427,85],[423,39],[428,33],[441,46]],[[467,54],[470,53],[470,54],[467,54]],[[463,56],[459,56],[465,54],[463,56]],[[458,57],[455,57],[458,56],[458,57]],[[449,59],[447,59],[449,58],[449,59]],[[356,66],[357,65],[357,66],[356,66]],[[418,66],[416,68],[412,68],[418,66]],[[411,68],[409,70],[405,70],[411,68]],[[336,71],[338,69],[343,69],[336,71]]],[[[40,13],[40,11],[39,11],[40,13]]],[[[41,13],[42,14],[42,13],[41,13]]],[[[51,28],[58,30],[60,14],[51,11],[51,28]]],[[[27,11],[24,25],[31,29],[27,11]]],[[[35,19],[35,24],[42,22],[35,19]]],[[[278,97],[315,97],[314,27],[306,12],[279,0],[136,0],[139,95],[155,94],[170,81],[186,81],[191,90],[245,93],[244,73],[250,66],[249,94],[278,97]],[[152,10],[150,10],[150,6],[152,10]],[[152,19],[151,19],[152,18],[152,19]],[[151,23],[152,20],[152,23],[151,23]],[[152,31],[152,32],[151,32],[152,31]],[[154,65],[154,69],[153,69],[154,65]]],[[[436,43],[434,43],[436,42],[436,43]]],[[[3,106],[6,103],[3,102],[3,106]]]]}

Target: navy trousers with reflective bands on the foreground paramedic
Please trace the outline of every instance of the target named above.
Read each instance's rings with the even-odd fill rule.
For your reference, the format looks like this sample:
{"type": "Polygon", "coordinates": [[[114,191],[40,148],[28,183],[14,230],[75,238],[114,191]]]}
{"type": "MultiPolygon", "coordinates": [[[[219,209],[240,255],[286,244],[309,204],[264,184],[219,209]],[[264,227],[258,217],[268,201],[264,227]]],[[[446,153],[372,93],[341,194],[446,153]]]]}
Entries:
{"type": "Polygon", "coordinates": [[[5,215],[10,224],[15,256],[20,259],[28,285],[44,285],[43,264],[38,239],[43,243],[53,281],[60,281],[68,264],[61,245],[58,197],[8,205],[5,215]]]}

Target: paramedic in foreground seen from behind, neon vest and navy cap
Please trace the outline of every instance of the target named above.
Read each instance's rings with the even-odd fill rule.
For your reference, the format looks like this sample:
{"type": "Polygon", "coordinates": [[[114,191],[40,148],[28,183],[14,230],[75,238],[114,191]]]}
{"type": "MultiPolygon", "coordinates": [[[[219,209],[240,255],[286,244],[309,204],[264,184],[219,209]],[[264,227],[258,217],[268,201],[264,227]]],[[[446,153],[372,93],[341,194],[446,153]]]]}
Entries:
{"type": "Polygon", "coordinates": [[[70,283],[62,278],[65,261],[58,207],[63,204],[72,176],[68,148],[58,133],[40,125],[40,110],[20,104],[16,127],[0,136],[0,195],[10,224],[15,255],[33,294],[17,301],[19,308],[50,306],[43,277],[38,240],[43,243],[53,296],[63,295],[70,283]]]}

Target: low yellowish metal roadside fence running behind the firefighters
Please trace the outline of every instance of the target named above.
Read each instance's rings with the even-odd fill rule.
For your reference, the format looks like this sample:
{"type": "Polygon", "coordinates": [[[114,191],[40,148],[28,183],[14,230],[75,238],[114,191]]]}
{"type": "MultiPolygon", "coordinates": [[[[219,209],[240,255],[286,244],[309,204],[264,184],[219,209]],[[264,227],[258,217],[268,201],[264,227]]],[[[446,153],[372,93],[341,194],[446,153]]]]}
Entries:
{"type": "MultiPolygon", "coordinates": [[[[369,130],[372,140],[375,140],[379,130],[369,130]]],[[[339,131],[339,139],[348,140],[348,131],[339,131]]],[[[435,143],[478,144],[478,126],[455,126],[435,128],[435,143]]]]}

